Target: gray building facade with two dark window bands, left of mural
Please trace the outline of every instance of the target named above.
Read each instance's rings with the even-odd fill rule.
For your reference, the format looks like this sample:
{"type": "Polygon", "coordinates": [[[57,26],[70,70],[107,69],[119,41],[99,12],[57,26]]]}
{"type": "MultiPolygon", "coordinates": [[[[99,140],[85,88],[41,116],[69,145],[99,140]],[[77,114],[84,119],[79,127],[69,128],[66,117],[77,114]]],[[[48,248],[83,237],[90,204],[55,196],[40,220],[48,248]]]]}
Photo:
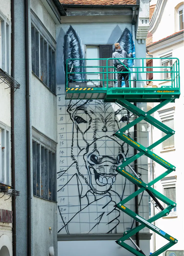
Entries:
{"type": "Polygon", "coordinates": [[[55,2],[14,4],[17,255],[57,255],[55,2]]]}

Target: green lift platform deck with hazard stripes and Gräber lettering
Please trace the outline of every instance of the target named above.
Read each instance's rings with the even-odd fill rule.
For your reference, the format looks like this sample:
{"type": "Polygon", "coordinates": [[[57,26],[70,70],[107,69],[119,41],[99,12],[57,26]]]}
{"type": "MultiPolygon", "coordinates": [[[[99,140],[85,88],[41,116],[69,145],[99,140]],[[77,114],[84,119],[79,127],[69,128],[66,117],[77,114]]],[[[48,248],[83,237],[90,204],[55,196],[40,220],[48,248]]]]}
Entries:
{"type": "Polygon", "coordinates": [[[129,102],[160,102],[179,99],[179,88],[66,88],[65,99],[104,99],[114,102],[125,99],[129,102]]]}

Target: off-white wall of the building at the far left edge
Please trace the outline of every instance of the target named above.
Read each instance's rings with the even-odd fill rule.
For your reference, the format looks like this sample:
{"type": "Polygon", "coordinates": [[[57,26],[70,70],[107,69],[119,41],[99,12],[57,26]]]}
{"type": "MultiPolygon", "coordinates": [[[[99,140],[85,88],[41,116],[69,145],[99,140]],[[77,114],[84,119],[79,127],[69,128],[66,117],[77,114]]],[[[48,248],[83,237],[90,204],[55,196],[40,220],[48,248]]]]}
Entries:
{"type": "MultiPolygon", "coordinates": [[[[7,19],[8,22],[11,20],[11,12],[10,12],[10,0],[3,1],[0,0],[0,16],[3,15],[3,18],[7,19]]],[[[5,38],[2,38],[2,35],[0,36],[0,46],[1,46],[1,40],[5,40],[5,38]]],[[[9,43],[11,43],[11,38],[9,38],[9,43]]],[[[11,49],[11,48],[9,48],[11,49]]],[[[0,51],[0,54],[2,52],[0,51]]],[[[9,52],[10,54],[10,52],[9,52]]],[[[6,70],[5,70],[6,71],[6,70]]],[[[2,80],[0,80],[2,82],[2,80]]],[[[0,127],[1,125],[6,126],[9,130],[9,136],[10,136],[10,126],[11,126],[11,115],[10,115],[10,89],[6,89],[8,87],[7,84],[0,83],[0,127]]],[[[10,151],[11,146],[9,148],[5,148],[5,150],[10,151]]],[[[10,153],[10,152],[9,152],[10,153]]],[[[0,175],[1,177],[1,175],[0,175]]],[[[0,179],[0,183],[2,180],[0,179]]],[[[10,181],[5,181],[6,185],[9,184],[10,181]]],[[[0,185],[1,186],[1,185],[0,185]]],[[[11,211],[11,197],[4,195],[3,193],[0,193],[0,209],[9,210],[11,211]],[[6,200],[7,199],[7,200],[6,200]]],[[[2,218],[2,216],[1,216],[2,218]]],[[[0,222],[0,255],[1,253],[4,253],[3,256],[12,256],[12,223],[3,223],[0,222]],[[4,246],[4,247],[3,247],[4,246]],[[2,249],[3,247],[3,249],[2,249]],[[2,250],[1,250],[2,249],[2,250]],[[8,255],[9,252],[9,255],[8,255]]]]}

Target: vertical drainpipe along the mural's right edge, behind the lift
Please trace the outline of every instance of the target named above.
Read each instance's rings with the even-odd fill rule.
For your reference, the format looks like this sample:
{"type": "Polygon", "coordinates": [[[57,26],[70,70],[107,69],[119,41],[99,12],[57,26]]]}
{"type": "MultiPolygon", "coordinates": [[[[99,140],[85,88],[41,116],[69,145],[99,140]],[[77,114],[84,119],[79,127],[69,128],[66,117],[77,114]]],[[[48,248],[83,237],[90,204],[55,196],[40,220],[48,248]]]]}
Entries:
{"type": "MultiPolygon", "coordinates": [[[[132,40],[135,44],[135,7],[133,7],[133,15],[132,15],[132,40]]],[[[134,61],[134,65],[135,66],[135,61],[134,61]]],[[[133,68],[133,71],[135,71],[135,68],[133,68]]],[[[136,73],[133,73],[133,80],[136,80],[136,73]]],[[[136,81],[133,81],[133,87],[136,88],[136,81]]],[[[134,102],[134,106],[136,106],[136,102],[134,102]]],[[[134,119],[136,119],[137,116],[134,115],[134,119]]],[[[137,124],[134,125],[134,140],[137,141],[137,124]]],[[[137,150],[134,148],[134,155],[137,154],[137,150]]],[[[136,172],[136,174],[138,174],[138,168],[137,168],[137,159],[134,161],[134,170],[136,172]]],[[[135,185],[135,191],[138,190],[138,186],[135,185]]],[[[135,213],[138,215],[139,214],[139,197],[138,195],[135,197],[135,213]]],[[[136,221],[135,222],[135,226],[138,227],[139,226],[139,222],[136,221]]],[[[140,236],[139,236],[139,232],[137,232],[135,234],[136,237],[136,244],[138,247],[140,247],[140,236]]]]}

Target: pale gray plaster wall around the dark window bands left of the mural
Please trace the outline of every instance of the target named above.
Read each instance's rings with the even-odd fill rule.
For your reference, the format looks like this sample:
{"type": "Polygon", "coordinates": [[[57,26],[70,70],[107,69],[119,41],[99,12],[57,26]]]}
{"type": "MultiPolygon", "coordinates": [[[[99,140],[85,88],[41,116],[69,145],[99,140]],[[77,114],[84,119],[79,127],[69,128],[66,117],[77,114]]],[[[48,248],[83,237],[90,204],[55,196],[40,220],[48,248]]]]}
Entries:
{"type": "MultiPolygon", "coordinates": [[[[45,28],[55,39],[55,23],[43,5],[42,1],[31,0],[30,8],[41,20],[45,28]]],[[[30,24],[31,25],[31,24],[30,24]]],[[[31,37],[31,36],[30,36],[31,37]]],[[[30,38],[31,39],[31,38],[30,38]]],[[[31,60],[31,41],[29,46],[31,60]]],[[[31,127],[36,128],[48,138],[57,141],[57,109],[56,95],[53,94],[41,80],[32,73],[30,64],[30,113],[31,127]]],[[[32,129],[31,129],[32,136],[32,129]]],[[[32,152],[32,143],[31,143],[32,152]]],[[[32,166],[32,155],[31,155],[32,166]]],[[[31,176],[31,183],[32,183],[31,176]]],[[[31,184],[31,189],[33,188],[31,184]]],[[[33,195],[33,191],[32,191],[33,195]]],[[[32,197],[32,255],[49,255],[49,247],[54,247],[57,255],[57,204],[38,197],[32,197]],[[52,231],[49,232],[49,227],[52,231]],[[41,239],[40,239],[41,238],[41,239]]]]}

